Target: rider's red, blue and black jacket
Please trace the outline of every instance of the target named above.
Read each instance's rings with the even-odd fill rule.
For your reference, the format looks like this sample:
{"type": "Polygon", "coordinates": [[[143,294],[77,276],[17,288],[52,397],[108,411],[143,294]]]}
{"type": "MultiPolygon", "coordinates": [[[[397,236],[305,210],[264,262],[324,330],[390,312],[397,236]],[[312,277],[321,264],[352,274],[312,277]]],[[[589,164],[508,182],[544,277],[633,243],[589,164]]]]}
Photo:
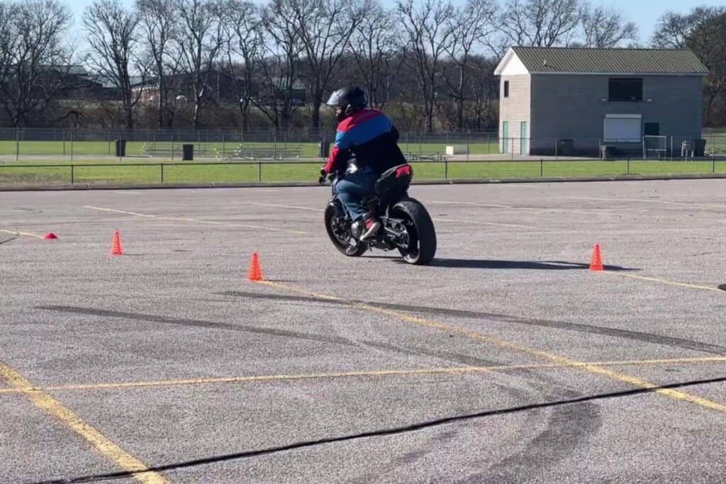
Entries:
{"type": "Polygon", "coordinates": [[[338,124],[335,146],[325,165],[327,173],[345,170],[352,155],[360,168],[370,167],[377,173],[406,163],[399,149],[399,131],[383,112],[360,110],[338,124]]]}

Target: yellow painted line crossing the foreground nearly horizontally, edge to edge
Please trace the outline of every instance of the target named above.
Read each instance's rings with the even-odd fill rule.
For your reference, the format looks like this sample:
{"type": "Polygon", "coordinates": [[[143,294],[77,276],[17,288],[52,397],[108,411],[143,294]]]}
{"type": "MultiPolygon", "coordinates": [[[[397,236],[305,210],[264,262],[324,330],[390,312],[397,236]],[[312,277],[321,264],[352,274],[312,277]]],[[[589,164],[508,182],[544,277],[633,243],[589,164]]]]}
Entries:
{"type": "Polygon", "coordinates": [[[364,372],[334,372],[311,374],[272,374],[248,375],[240,377],[189,378],[185,380],[155,380],[147,382],[110,382],[110,383],[79,383],[76,385],[56,385],[49,387],[13,387],[0,389],[0,395],[7,393],[23,393],[29,391],[68,391],[68,390],[123,390],[125,388],[143,387],[177,387],[186,385],[216,385],[224,383],[253,383],[295,380],[330,380],[354,377],[406,377],[432,374],[475,374],[492,372],[511,372],[516,370],[544,370],[556,368],[572,368],[573,366],[658,366],[723,363],[726,356],[707,356],[703,358],[661,358],[652,360],[592,361],[580,365],[550,363],[526,365],[496,366],[447,366],[441,368],[420,369],[389,369],[370,370],[364,372]]]}

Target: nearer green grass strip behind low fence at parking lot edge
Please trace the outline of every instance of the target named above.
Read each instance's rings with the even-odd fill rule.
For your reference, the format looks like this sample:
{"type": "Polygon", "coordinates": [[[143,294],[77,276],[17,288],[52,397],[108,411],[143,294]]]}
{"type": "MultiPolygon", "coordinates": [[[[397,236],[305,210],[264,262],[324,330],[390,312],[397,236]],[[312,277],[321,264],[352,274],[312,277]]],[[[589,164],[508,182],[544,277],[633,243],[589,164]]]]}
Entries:
{"type": "MultiPolygon", "coordinates": [[[[0,164],[0,184],[104,184],[134,183],[235,183],[248,181],[314,181],[320,164],[310,163],[74,163],[57,166],[0,164]]],[[[726,161],[461,161],[412,163],[414,178],[431,179],[531,179],[540,176],[614,176],[621,174],[667,175],[726,173],[726,161]]]]}

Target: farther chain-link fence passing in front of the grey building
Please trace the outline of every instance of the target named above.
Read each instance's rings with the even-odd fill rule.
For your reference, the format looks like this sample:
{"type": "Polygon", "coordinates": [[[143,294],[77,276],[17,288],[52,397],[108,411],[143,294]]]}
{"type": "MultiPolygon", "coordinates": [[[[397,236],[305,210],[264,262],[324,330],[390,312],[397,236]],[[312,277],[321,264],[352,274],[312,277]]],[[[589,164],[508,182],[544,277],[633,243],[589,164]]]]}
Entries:
{"type": "MultiPolygon", "coordinates": [[[[103,163],[145,160],[215,162],[319,160],[327,157],[334,131],[275,132],[218,129],[113,130],[0,128],[0,163],[103,163]]],[[[399,146],[411,161],[588,159],[699,160],[726,157],[726,134],[640,139],[500,138],[496,131],[443,134],[402,132],[399,146]]]]}

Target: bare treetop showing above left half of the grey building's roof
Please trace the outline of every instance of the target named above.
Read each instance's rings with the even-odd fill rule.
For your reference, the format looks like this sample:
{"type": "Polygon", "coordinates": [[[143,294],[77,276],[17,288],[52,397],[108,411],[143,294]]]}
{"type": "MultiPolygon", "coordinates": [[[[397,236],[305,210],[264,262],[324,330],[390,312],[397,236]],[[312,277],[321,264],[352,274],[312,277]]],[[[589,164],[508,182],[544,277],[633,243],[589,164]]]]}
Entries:
{"type": "Polygon", "coordinates": [[[519,46],[567,44],[580,21],[578,0],[509,0],[503,28],[519,46]]]}

